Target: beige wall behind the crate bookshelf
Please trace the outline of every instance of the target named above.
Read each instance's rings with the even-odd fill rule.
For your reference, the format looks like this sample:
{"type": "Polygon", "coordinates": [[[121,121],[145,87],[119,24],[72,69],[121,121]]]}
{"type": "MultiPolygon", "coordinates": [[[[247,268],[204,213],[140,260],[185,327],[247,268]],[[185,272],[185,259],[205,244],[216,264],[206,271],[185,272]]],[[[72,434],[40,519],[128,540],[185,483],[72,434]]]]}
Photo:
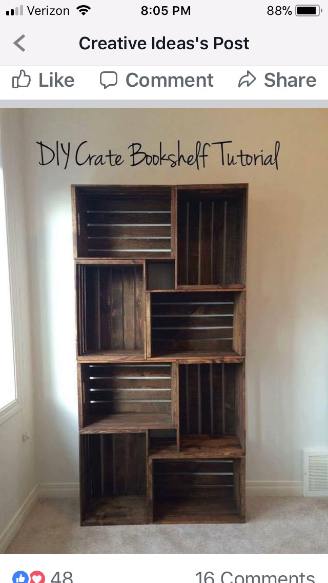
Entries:
{"type": "Polygon", "coordinates": [[[70,184],[249,183],[248,480],[301,480],[301,449],[328,445],[328,114],[325,110],[24,110],[38,481],[77,480],[77,406],[70,184]],[[160,140],[186,151],[231,139],[271,151],[274,167],[38,165],[36,141],[88,140],[126,153],[160,140]]]}

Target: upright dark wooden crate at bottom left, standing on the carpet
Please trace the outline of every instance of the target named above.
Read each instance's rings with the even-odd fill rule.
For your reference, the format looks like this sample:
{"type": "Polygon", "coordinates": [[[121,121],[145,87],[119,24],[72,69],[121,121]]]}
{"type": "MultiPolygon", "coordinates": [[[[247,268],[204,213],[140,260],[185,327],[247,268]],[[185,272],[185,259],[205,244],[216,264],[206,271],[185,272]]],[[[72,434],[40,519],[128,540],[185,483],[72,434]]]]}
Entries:
{"type": "Polygon", "coordinates": [[[144,524],[146,435],[80,436],[82,525],[144,524]]]}

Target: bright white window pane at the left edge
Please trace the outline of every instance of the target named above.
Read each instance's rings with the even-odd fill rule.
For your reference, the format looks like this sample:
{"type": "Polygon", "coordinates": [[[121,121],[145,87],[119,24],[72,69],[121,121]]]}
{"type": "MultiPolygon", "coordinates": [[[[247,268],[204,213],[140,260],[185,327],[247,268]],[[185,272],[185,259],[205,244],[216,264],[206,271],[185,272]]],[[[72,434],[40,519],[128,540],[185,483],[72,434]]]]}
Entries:
{"type": "Polygon", "coordinates": [[[8,241],[6,226],[5,188],[3,182],[2,152],[0,143],[0,354],[2,362],[0,384],[0,419],[17,401],[15,364],[13,349],[12,308],[10,300],[10,279],[8,262],[8,241]]]}

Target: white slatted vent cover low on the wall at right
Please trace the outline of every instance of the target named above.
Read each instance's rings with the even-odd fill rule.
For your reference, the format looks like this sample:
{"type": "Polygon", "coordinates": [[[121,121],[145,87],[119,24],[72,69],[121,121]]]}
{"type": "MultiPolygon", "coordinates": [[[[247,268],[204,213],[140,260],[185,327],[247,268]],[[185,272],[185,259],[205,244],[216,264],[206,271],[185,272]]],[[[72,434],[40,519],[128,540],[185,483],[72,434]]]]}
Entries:
{"type": "Polygon", "coordinates": [[[304,449],[304,496],[328,496],[328,449],[304,449]]]}

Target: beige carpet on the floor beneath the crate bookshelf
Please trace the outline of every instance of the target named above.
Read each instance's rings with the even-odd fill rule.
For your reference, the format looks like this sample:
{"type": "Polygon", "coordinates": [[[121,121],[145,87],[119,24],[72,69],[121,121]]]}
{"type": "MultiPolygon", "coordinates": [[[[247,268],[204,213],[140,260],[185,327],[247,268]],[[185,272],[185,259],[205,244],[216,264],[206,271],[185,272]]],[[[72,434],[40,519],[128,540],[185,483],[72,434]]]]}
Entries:
{"type": "Polygon", "coordinates": [[[41,500],[7,553],[328,553],[328,498],[252,497],[247,519],[81,528],[77,500],[41,500]]]}

